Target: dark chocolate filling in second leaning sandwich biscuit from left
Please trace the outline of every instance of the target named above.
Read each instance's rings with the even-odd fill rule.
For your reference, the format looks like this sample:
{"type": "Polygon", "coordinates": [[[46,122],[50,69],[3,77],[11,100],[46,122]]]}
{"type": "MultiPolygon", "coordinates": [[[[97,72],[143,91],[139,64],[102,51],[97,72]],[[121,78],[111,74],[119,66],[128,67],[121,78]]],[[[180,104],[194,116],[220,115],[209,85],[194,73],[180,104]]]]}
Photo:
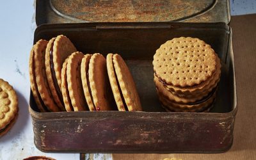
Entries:
{"type": "Polygon", "coordinates": [[[52,80],[53,80],[54,88],[55,88],[55,90],[57,92],[58,98],[60,99],[61,104],[64,106],[64,102],[63,102],[63,98],[62,98],[62,93],[60,91],[60,87],[58,85],[58,81],[57,81],[55,70],[54,70],[53,54],[52,54],[54,41],[52,42],[52,46],[51,46],[51,50],[50,50],[50,63],[51,63],[52,80]]]}

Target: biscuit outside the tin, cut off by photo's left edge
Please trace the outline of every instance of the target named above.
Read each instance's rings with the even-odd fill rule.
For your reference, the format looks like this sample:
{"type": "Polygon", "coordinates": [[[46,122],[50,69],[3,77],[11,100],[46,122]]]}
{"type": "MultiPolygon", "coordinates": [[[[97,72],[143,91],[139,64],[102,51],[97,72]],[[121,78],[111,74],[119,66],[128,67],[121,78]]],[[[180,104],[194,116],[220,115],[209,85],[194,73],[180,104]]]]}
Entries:
{"type": "Polygon", "coordinates": [[[18,116],[18,97],[13,87],[0,79],[0,137],[6,134],[18,116]]]}

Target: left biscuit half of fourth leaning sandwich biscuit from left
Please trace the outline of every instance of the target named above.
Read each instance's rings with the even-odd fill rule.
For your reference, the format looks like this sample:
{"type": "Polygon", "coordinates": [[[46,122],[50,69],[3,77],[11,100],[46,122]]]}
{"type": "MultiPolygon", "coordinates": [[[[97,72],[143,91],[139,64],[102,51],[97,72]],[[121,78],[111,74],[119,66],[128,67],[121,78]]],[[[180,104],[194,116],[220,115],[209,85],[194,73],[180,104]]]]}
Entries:
{"type": "Polygon", "coordinates": [[[82,84],[83,84],[84,97],[88,104],[88,108],[90,109],[90,111],[96,111],[97,109],[95,108],[93,103],[92,90],[90,87],[89,74],[88,74],[89,63],[91,58],[92,58],[92,54],[85,54],[81,61],[81,78],[82,78],[82,84]]]}

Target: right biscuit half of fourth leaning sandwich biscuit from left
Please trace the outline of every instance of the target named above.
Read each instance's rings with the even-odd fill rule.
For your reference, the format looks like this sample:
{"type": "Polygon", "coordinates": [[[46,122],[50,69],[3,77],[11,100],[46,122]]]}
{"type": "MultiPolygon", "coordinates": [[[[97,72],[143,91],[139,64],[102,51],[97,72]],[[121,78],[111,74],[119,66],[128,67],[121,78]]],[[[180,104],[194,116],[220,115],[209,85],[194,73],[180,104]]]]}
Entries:
{"type": "Polygon", "coordinates": [[[95,53],[90,58],[87,81],[90,83],[91,97],[95,110],[116,110],[115,100],[108,79],[106,59],[102,54],[95,53]]]}

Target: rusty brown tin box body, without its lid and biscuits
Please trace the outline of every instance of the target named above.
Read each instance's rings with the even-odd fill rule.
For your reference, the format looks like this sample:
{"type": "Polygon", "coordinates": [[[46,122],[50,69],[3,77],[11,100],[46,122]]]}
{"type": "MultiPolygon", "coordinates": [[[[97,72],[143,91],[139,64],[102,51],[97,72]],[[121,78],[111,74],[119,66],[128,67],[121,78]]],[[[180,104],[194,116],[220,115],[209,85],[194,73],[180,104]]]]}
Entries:
{"type": "Polygon", "coordinates": [[[68,36],[78,51],[121,54],[131,69],[143,112],[38,113],[31,96],[29,111],[40,150],[224,152],[232,145],[236,85],[232,35],[226,24],[47,24],[36,29],[34,43],[60,34],[68,36]],[[221,81],[211,113],[166,113],[157,99],[152,58],[161,44],[178,36],[205,40],[221,58],[221,81]]]}

